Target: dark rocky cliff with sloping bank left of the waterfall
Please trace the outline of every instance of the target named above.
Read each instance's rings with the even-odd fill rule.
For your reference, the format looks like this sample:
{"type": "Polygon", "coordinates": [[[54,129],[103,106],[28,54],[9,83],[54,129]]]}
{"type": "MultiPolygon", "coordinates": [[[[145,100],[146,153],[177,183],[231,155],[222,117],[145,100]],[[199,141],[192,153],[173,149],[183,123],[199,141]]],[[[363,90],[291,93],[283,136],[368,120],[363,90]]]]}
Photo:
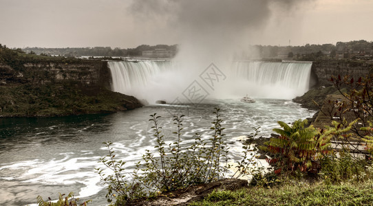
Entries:
{"type": "Polygon", "coordinates": [[[107,62],[100,60],[0,63],[0,117],[113,113],[142,106],[133,96],[110,91],[110,81],[107,62]]]}

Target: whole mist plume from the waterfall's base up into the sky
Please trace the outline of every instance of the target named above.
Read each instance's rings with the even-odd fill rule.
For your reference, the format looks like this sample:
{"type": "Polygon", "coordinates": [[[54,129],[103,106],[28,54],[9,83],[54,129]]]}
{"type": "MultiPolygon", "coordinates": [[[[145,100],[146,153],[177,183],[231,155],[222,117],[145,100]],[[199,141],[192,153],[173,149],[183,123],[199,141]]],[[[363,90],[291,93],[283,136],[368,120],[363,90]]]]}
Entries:
{"type": "MultiPolygon", "coordinates": [[[[201,80],[200,73],[211,62],[221,69],[227,78],[213,88],[202,82],[202,87],[209,93],[207,98],[239,98],[247,93],[257,98],[290,99],[301,94],[304,92],[303,87],[293,88],[293,85],[289,87],[288,84],[282,84],[283,82],[262,82],[257,85],[256,80],[234,76],[234,73],[231,73],[230,62],[233,60],[233,54],[246,51],[247,45],[259,45],[261,42],[267,44],[265,39],[268,39],[268,36],[278,43],[284,42],[281,39],[287,41],[295,32],[283,30],[280,22],[287,25],[285,22],[295,19],[292,14],[299,10],[298,6],[305,5],[305,8],[308,8],[308,1],[133,1],[129,12],[136,16],[139,25],[147,30],[156,27],[155,31],[161,33],[164,29],[171,29],[165,36],[177,36],[173,42],[180,44],[178,55],[175,57],[175,60],[180,62],[180,72],[158,76],[147,84],[145,91],[130,94],[138,99],[145,98],[148,102],[152,102],[149,99],[173,101],[182,95],[193,81],[201,80]],[[276,30],[281,31],[281,34],[283,31],[286,34],[272,32],[273,25],[276,25],[276,30]]],[[[149,34],[152,39],[162,36],[149,34]]]]}

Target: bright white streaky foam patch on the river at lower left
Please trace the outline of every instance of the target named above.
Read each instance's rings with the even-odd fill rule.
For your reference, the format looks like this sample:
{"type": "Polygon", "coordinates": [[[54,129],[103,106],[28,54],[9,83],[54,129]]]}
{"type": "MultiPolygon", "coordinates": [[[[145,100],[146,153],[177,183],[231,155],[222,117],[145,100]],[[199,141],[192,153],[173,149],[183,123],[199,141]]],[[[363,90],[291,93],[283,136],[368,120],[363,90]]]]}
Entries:
{"type": "MultiPolygon", "coordinates": [[[[92,155],[92,151],[84,150],[83,155],[92,155]]],[[[94,172],[94,168],[100,168],[98,163],[100,157],[72,157],[74,153],[63,153],[63,159],[52,159],[49,161],[34,159],[1,165],[0,171],[7,172],[9,176],[3,176],[4,180],[18,180],[21,183],[38,183],[43,185],[84,185],[78,191],[76,197],[86,197],[97,194],[103,190],[99,184],[100,176],[94,172]],[[17,171],[17,172],[16,172],[17,171]],[[23,171],[23,173],[19,171],[23,171]],[[20,175],[19,175],[20,174],[20,175]],[[12,176],[14,175],[14,176],[12,176]]]]}

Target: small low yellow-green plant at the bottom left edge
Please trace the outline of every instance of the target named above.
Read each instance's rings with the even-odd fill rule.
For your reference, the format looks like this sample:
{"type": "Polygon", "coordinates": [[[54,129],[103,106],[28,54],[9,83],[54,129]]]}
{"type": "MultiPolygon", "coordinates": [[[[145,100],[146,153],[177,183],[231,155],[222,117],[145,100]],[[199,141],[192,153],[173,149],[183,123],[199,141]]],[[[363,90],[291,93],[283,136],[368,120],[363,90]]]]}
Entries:
{"type": "Polygon", "coordinates": [[[67,196],[65,196],[65,194],[61,194],[59,193],[58,195],[58,201],[56,203],[52,203],[52,199],[51,198],[48,198],[48,201],[43,201],[43,198],[41,196],[38,196],[36,199],[37,199],[37,203],[39,206],[78,206],[78,205],[81,205],[81,206],[85,206],[87,205],[88,203],[92,203],[91,200],[89,201],[84,201],[83,203],[79,203],[79,198],[74,198],[74,193],[73,192],[70,192],[69,194],[67,194],[67,196]]]}

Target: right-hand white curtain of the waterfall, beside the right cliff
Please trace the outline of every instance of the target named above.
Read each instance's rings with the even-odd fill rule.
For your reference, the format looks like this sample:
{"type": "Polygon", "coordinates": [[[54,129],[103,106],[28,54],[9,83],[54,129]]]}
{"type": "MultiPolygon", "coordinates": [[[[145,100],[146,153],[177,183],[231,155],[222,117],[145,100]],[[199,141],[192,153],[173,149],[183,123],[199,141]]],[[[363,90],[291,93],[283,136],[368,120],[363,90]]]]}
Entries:
{"type": "Polygon", "coordinates": [[[288,99],[308,91],[311,67],[312,62],[233,62],[231,72],[255,88],[252,95],[288,99]]]}

